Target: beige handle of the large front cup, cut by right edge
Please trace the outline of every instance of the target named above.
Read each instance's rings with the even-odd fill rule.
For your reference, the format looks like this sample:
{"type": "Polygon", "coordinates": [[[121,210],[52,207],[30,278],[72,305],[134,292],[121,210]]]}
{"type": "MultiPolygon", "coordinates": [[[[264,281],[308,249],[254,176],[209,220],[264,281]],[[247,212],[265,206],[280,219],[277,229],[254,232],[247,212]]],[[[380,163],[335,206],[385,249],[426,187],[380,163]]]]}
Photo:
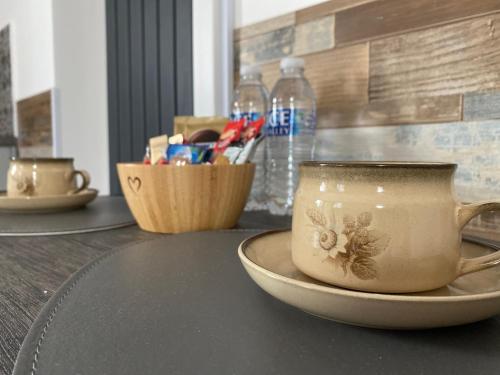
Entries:
{"type": "MultiPolygon", "coordinates": [[[[500,201],[482,202],[461,205],[458,207],[458,225],[462,229],[474,216],[487,211],[500,211],[500,201]]],[[[458,276],[481,271],[500,264],[500,251],[477,258],[461,258],[458,265],[458,276]]]]}

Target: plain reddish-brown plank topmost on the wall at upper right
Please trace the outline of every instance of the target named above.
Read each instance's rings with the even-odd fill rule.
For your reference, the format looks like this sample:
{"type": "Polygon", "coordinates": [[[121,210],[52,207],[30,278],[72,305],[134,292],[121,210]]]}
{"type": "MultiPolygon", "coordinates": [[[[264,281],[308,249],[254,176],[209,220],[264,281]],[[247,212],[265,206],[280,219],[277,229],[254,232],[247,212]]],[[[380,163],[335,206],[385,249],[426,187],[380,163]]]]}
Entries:
{"type": "Polygon", "coordinates": [[[499,10],[498,0],[379,0],[337,13],[336,43],[376,39],[499,10]]]}

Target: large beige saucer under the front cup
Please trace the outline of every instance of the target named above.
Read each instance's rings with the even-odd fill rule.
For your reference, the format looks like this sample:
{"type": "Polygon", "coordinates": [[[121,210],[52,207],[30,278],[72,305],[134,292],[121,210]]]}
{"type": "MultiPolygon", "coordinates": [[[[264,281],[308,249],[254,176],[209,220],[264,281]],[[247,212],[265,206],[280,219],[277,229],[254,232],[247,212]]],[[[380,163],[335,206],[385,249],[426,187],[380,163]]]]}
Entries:
{"type": "MultiPolygon", "coordinates": [[[[238,253],[250,277],[277,299],[342,323],[384,329],[424,329],[476,322],[500,314],[500,267],[456,279],[429,292],[380,294],[314,280],[292,263],[291,231],[271,231],[243,241],[238,253]]],[[[464,242],[465,257],[494,251],[464,242]]]]}

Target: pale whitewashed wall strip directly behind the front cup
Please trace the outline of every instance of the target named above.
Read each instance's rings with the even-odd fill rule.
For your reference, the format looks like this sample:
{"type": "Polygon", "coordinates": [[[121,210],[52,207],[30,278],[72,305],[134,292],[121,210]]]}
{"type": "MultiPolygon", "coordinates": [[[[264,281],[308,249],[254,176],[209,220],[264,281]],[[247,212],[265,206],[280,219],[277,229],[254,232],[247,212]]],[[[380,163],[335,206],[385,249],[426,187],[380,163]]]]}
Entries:
{"type": "Polygon", "coordinates": [[[500,121],[318,130],[320,160],[458,163],[463,201],[500,198],[500,121]]]}

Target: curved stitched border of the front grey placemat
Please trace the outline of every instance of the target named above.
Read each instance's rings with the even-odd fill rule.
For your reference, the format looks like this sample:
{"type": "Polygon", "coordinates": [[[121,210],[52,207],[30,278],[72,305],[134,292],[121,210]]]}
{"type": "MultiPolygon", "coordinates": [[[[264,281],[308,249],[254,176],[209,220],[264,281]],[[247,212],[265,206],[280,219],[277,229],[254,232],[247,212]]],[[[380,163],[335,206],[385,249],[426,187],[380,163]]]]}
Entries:
{"type": "MultiPolygon", "coordinates": [[[[208,232],[217,232],[217,233],[234,233],[234,232],[255,232],[258,234],[260,232],[268,231],[269,229],[223,229],[217,231],[208,231],[208,232]]],[[[193,233],[204,233],[204,232],[193,232],[193,233]]],[[[169,235],[165,235],[169,236],[169,235]]],[[[145,241],[154,241],[158,238],[152,238],[151,240],[145,241]]],[[[141,242],[141,243],[145,243],[141,242]]],[[[38,370],[38,359],[41,352],[41,347],[43,345],[45,335],[49,330],[52,322],[54,321],[57,311],[60,306],[66,299],[66,297],[73,291],[73,289],[77,286],[77,284],[82,281],[90,272],[95,270],[102,262],[107,260],[113,255],[126,250],[130,247],[137,246],[137,243],[128,244],[125,246],[121,246],[119,248],[110,250],[108,253],[101,255],[100,257],[90,261],[89,263],[82,266],[78,271],[76,271],[73,275],[71,275],[54,293],[52,297],[47,301],[42,310],[38,313],[37,317],[33,321],[33,324],[28,330],[26,337],[23,340],[21,348],[19,349],[19,353],[16,357],[16,362],[14,363],[14,369],[12,374],[26,374],[25,369],[19,367],[25,365],[27,361],[31,362],[31,368],[29,369],[30,375],[36,375],[38,370]],[[34,349],[32,349],[33,345],[34,349]],[[24,359],[25,358],[25,359],[24,359]],[[23,361],[24,359],[24,361],[23,361]]]]}

